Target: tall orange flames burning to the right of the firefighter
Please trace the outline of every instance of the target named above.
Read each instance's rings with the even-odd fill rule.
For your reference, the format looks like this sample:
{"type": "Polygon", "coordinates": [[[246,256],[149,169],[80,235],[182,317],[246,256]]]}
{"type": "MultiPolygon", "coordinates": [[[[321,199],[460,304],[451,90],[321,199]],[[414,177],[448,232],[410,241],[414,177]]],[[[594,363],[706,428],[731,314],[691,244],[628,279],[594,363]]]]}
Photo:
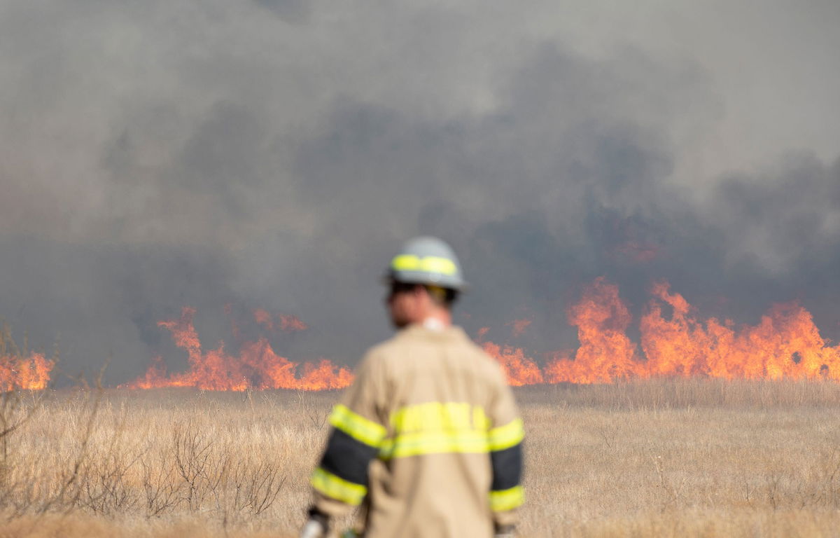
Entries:
{"type": "Polygon", "coordinates": [[[522,349],[492,342],[482,346],[516,386],[690,376],[840,380],[840,345],[822,339],[798,303],[775,305],[759,324],[736,330],[731,320],[696,319],[667,282],[654,284],[651,295],[639,322],[641,353],[626,334],[632,319],[618,287],[602,277],[569,309],[569,322],[578,329],[577,351],[556,351],[540,368],[522,349]]]}

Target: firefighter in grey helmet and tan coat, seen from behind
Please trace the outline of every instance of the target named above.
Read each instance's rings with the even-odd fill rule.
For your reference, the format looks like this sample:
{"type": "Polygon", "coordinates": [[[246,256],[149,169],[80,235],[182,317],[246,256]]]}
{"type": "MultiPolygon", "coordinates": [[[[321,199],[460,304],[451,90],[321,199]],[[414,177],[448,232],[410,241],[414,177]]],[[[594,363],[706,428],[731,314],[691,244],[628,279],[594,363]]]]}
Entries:
{"type": "Polygon", "coordinates": [[[302,538],[362,505],[365,538],[512,536],[523,502],[522,419],[501,367],[459,327],[458,259],[410,240],[386,273],[398,330],[365,354],[329,416],[302,538]]]}

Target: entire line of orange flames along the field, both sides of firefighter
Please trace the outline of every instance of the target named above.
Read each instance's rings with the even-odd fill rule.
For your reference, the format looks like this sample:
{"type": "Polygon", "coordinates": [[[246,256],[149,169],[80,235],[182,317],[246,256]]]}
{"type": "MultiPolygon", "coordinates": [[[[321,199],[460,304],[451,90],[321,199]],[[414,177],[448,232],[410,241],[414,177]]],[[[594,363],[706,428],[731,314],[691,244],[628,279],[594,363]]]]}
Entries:
{"type": "MultiPolygon", "coordinates": [[[[179,319],[161,321],[172,340],[187,353],[189,370],[167,374],[160,357],[130,388],[194,387],[242,391],[247,388],[344,388],[353,381],[345,367],[322,360],[299,364],[278,356],[269,341],[260,338],[240,345],[238,354],[225,351],[224,343],[203,351],[192,318],[185,308],[179,319]]],[[[482,348],[504,371],[513,386],[538,383],[610,383],[649,377],[720,377],[725,379],[832,379],[840,380],[840,345],[824,340],[811,314],[798,303],[775,305],[759,324],[735,328],[731,320],[701,321],[668,282],[657,282],[638,322],[640,342],[627,336],[633,323],[617,285],[596,278],[578,303],[567,312],[577,328],[577,350],[553,351],[535,361],[521,347],[486,340],[490,328],[477,337],[482,348]],[[667,314],[666,314],[667,313],[667,314]],[[542,366],[540,365],[542,363],[542,366]]],[[[256,310],[254,319],[264,329],[283,332],[307,330],[294,316],[256,310]]],[[[521,336],[531,318],[511,322],[512,335],[521,336]]],[[[32,356],[29,366],[8,357],[0,364],[3,387],[43,388],[52,364],[32,356]]]]}

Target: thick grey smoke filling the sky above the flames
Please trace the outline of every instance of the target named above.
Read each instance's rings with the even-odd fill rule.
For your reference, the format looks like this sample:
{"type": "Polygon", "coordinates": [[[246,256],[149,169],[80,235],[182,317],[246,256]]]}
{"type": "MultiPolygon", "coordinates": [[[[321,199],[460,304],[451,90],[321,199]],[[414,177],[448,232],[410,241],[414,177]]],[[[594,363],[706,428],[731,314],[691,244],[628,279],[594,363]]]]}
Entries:
{"type": "Polygon", "coordinates": [[[459,322],[503,340],[533,319],[535,354],[575,346],[566,309],[600,275],[636,312],[660,278],[748,323],[796,299],[836,338],[840,17],[774,8],[797,14],[677,11],[672,46],[620,7],[3,3],[0,315],[57,338],[66,372],[110,358],[109,382],[183,366],[156,321],[185,305],[205,345],[264,308],[310,327],[281,354],[354,364],[389,334],[388,257],[423,233],[463,258],[459,322]],[[785,22],[790,50],[729,26],[714,50],[695,16],[759,42],[785,22]],[[808,59],[822,78],[791,82],[808,59]],[[797,92],[737,108],[743,71],[797,92]]]}

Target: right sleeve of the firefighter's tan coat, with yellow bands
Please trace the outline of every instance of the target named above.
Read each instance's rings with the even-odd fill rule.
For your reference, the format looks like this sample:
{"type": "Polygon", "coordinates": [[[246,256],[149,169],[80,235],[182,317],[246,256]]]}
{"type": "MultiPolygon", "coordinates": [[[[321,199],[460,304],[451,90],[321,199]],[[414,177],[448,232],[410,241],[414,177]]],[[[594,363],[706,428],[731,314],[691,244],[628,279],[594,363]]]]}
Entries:
{"type": "Polygon", "coordinates": [[[488,448],[493,472],[490,506],[496,525],[514,525],[517,523],[517,509],[525,500],[522,490],[522,440],[525,432],[511,388],[499,373],[488,409],[488,448]]]}

